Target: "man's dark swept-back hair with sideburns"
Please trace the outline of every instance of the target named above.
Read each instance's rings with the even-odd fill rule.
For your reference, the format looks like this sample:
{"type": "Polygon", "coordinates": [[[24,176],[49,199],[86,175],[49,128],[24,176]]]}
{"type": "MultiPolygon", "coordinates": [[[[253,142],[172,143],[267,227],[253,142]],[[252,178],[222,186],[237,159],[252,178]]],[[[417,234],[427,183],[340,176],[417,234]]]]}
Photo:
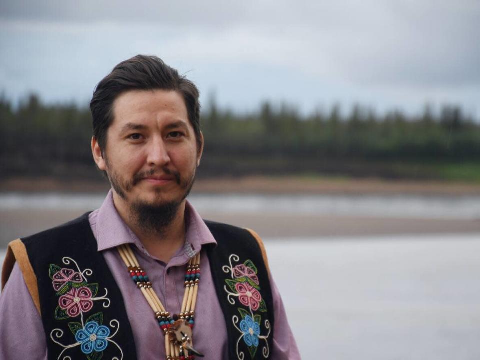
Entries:
{"type": "Polygon", "coordinates": [[[193,82],[165,64],[156,56],[136,55],[120,62],[96,85],[90,101],[93,118],[93,136],[102,152],[106,145],[106,133],[113,121],[113,102],[129,90],[173,90],[182,95],[193,126],[198,148],[200,135],[200,92],[193,82]]]}

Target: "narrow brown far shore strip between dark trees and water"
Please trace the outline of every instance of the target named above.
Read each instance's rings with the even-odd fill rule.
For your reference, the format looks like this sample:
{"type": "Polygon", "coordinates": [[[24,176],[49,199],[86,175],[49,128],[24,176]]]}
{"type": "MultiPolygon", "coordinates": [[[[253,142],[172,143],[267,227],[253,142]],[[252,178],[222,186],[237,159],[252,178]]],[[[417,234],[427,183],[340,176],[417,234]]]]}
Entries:
{"type": "MultiPolygon", "coordinates": [[[[0,180],[0,192],[105,192],[106,180],[15,177],[0,180]]],[[[197,179],[192,193],[253,194],[411,194],[467,196],[480,194],[480,183],[385,180],[318,176],[246,176],[197,179]]]]}

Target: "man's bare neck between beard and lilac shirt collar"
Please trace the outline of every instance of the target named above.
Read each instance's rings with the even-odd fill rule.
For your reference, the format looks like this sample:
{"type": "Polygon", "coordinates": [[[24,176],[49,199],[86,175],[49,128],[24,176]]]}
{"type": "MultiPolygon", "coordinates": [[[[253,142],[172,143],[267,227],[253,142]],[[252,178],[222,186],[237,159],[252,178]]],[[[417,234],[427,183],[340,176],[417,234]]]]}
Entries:
{"type": "Polygon", "coordinates": [[[141,241],[152,256],[168,263],[185,242],[185,203],[183,200],[172,221],[161,228],[145,228],[138,222],[138,216],[132,213],[125,201],[113,191],[113,203],[122,220],[141,241]]]}

